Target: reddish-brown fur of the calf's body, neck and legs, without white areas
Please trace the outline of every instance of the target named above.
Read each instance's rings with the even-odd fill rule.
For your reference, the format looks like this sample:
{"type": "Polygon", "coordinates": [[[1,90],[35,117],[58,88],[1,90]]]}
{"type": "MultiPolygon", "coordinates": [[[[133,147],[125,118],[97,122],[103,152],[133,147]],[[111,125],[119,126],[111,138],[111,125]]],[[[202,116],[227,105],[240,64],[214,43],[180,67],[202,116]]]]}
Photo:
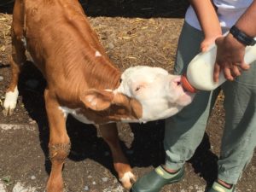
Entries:
{"type": "MultiPolygon", "coordinates": [[[[77,0],[16,0],[13,16],[12,82],[9,90],[15,89],[19,66],[26,61],[22,42],[26,38],[26,49],[47,80],[44,99],[49,120],[52,168],[46,189],[47,192],[62,192],[61,169],[70,141],[66,117],[60,107],[80,108],[79,113],[99,124],[125,117],[137,119],[142,116],[142,107],[136,100],[121,94],[109,96],[113,99],[111,103],[115,104],[106,110],[97,111],[92,110],[93,106],[84,106],[86,100],[83,102],[82,96],[88,94],[87,90],[116,89],[120,71],[109,61],[77,0]],[[96,57],[96,51],[102,56],[96,57]]],[[[106,91],[104,94],[108,95],[106,91]]],[[[109,105],[104,100],[102,104],[102,108],[109,105]]],[[[131,166],[120,149],[117,127],[115,124],[100,125],[100,130],[111,148],[115,170],[122,178],[125,172],[131,172],[131,166]]],[[[122,180],[122,184],[125,188],[131,187],[130,180],[122,180]]]]}

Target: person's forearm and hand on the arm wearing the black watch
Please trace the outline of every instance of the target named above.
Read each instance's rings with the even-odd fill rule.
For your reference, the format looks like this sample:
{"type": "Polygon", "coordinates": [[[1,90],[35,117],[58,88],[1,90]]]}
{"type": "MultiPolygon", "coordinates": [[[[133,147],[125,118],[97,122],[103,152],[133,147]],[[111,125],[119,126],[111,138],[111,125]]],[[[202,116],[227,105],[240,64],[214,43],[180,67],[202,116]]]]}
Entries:
{"type": "MultiPolygon", "coordinates": [[[[235,26],[249,37],[256,37],[256,0],[248,7],[246,12],[236,21],[235,26]]],[[[242,44],[229,33],[226,37],[217,38],[218,46],[216,63],[214,66],[213,80],[218,82],[220,71],[224,72],[224,77],[234,80],[241,75],[243,70],[247,70],[249,65],[244,62],[246,45],[242,44]]]]}

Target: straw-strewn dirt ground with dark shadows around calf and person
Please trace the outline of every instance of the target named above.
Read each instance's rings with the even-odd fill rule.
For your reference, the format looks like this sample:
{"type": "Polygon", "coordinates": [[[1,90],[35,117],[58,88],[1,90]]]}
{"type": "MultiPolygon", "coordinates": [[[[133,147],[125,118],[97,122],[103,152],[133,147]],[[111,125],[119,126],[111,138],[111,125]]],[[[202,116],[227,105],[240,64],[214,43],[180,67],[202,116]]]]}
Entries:
{"type": "MultiPolygon", "coordinates": [[[[1,1],[2,2],[2,1],[1,1]]],[[[163,67],[172,73],[177,38],[183,25],[186,1],[108,0],[84,1],[91,26],[98,33],[111,60],[127,67],[163,67]]],[[[0,3],[1,5],[1,3],[0,3]]],[[[9,84],[10,23],[12,4],[0,7],[0,105],[9,84]],[[7,13],[7,14],[6,14],[7,13]]],[[[27,61],[19,82],[15,113],[0,113],[0,192],[44,191],[49,176],[49,130],[44,110],[45,81],[27,61]]],[[[224,127],[220,95],[207,125],[205,137],[186,164],[182,182],[167,185],[163,192],[204,192],[217,175],[217,160],[224,127]]],[[[162,120],[144,125],[119,123],[119,137],[134,172],[141,177],[164,161],[162,120]]],[[[67,119],[72,150],[63,169],[68,192],[121,192],[113,171],[108,145],[91,125],[67,119]]],[[[238,192],[255,192],[256,154],[237,186],[238,192]]]]}

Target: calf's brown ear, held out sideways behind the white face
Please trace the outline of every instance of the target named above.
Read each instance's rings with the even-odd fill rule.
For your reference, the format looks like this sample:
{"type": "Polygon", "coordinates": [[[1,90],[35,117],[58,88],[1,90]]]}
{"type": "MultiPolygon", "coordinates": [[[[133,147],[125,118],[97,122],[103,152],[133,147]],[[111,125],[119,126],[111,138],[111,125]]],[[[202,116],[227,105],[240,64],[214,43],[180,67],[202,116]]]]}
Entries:
{"type": "Polygon", "coordinates": [[[86,108],[95,111],[102,111],[111,105],[113,101],[113,92],[108,90],[90,89],[80,96],[81,102],[84,103],[86,108]]]}

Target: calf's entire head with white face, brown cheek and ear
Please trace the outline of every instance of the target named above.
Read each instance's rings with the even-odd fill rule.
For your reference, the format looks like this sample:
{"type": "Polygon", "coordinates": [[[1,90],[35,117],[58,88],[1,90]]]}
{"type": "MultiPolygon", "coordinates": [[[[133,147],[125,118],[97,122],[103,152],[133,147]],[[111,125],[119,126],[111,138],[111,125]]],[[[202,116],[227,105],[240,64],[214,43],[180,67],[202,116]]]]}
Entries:
{"type": "Polygon", "coordinates": [[[90,89],[80,99],[85,108],[102,113],[108,121],[166,119],[192,102],[194,94],[183,90],[180,80],[160,67],[130,67],[117,89],[90,89]]]}

